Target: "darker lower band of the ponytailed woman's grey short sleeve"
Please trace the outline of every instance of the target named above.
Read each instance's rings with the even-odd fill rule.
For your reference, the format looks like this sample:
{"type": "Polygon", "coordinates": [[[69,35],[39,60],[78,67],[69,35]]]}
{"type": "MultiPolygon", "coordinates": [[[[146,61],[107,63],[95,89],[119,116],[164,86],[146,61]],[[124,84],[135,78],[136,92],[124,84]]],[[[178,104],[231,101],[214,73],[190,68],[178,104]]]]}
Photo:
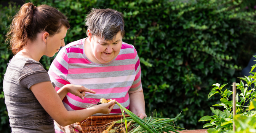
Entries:
{"type": "Polygon", "coordinates": [[[31,86],[40,82],[51,81],[48,73],[41,72],[41,73],[34,73],[26,76],[25,78],[21,79],[19,84],[22,86],[30,89],[31,86]]]}

